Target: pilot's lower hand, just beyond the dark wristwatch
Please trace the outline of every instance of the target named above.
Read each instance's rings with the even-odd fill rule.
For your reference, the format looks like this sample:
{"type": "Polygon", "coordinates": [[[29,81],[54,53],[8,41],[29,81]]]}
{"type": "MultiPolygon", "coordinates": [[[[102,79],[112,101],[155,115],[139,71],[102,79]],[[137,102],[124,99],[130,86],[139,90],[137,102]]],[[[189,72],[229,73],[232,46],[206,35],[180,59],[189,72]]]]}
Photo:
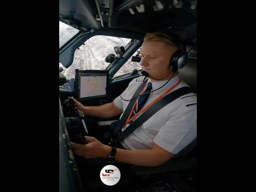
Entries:
{"type": "Polygon", "coordinates": [[[85,158],[105,158],[111,151],[111,147],[102,144],[94,137],[84,136],[87,140],[86,145],[70,142],[69,145],[74,149],[76,155],[83,156],[85,158]]]}

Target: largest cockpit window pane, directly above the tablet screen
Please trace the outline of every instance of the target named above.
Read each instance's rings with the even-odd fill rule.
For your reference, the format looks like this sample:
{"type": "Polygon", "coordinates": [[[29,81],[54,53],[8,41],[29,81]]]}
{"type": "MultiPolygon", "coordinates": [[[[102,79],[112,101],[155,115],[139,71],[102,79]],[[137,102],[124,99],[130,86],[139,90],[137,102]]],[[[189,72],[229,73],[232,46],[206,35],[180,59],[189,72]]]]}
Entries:
{"type": "Polygon", "coordinates": [[[85,45],[75,51],[72,65],[62,71],[67,79],[75,78],[75,69],[106,69],[109,65],[105,61],[108,54],[114,53],[114,46],[126,46],[131,39],[96,35],[84,42],[85,45]]]}

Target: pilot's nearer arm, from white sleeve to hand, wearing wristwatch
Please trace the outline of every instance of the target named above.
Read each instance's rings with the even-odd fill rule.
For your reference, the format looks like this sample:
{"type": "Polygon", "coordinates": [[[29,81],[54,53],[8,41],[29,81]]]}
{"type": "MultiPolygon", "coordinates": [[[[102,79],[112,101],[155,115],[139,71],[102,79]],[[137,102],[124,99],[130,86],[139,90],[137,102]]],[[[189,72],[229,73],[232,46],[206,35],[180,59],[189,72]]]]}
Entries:
{"type": "MultiPolygon", "coordinates": [[[[177,111],[154,138],[151,149],[116,149],[116,161],[142,166],[158,166],[168,161],[196,138],[196,110],[190,106],[177,111]]],[[[106,158],[111,147],[93,137],[86,137],[86,145],[71,143],[74,152],[85,158],[106,158]]]]}

